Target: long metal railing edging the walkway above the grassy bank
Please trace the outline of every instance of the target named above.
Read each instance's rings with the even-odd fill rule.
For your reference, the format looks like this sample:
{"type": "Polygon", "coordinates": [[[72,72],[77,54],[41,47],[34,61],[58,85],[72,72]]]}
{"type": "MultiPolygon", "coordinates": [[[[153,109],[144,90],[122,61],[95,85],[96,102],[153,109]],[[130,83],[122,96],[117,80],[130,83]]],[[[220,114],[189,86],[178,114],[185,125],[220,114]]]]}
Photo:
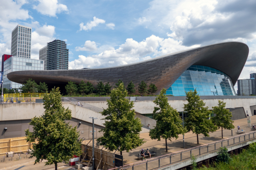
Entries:
{"type": "MultiPolygon", "coordinates": [[[[163,166],[171,165],[172,163],[178,163],[180,161],[190,159],[191,154],[194,154],[194,156],[200,156],[202,154],[217,151],[220,147],[223,147],[223,146],[231,146],[231,145],[240,144],[247,140],[253,140],[256,137],[255,133],[256,132],[245,133],[243,135],[234,136],[228,139],[223,139],[223,140],[212,142],[209,144],[196,146],[194,148],[185,149],[178,152],[166,154],[163,156],[151,158],[150,160],[131,163],[128,165],[124,165],[121,168],[122,170],[158,169],[163,166]],[[185,153],[189,153],[189,154],[185,154],[185,153]]],[[[110,170],[119,170],[119,169],[120,167],[116,167],[110,170]]]]}

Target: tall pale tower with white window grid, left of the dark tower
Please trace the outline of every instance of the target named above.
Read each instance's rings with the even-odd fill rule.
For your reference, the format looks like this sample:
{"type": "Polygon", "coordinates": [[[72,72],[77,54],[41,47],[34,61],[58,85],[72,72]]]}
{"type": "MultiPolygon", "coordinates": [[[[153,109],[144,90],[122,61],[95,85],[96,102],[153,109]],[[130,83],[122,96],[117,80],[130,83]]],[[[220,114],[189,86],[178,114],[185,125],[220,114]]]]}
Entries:
{"type": "Polygon", "coordinates": [[[31,27],[17,25],[12,31],[11,55],[21,58],[31,57],[31,27]]]}

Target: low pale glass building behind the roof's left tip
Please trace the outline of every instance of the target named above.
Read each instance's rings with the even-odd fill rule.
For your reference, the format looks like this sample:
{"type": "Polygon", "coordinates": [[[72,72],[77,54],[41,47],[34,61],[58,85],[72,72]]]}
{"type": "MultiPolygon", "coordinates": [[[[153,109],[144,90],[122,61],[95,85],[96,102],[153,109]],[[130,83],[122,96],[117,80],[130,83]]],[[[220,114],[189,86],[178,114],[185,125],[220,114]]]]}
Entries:
{"type": "MultiPolygon", "coordinates": [[[[36,59],[25,59],[12,56],[4,61],[4,75],[13,71],[23,70],[44,70],[44,61],[36,59]]],[[[4,78],[4,88],[19,89],[21,84],[12,82],[8,78],[4,78]]]]}

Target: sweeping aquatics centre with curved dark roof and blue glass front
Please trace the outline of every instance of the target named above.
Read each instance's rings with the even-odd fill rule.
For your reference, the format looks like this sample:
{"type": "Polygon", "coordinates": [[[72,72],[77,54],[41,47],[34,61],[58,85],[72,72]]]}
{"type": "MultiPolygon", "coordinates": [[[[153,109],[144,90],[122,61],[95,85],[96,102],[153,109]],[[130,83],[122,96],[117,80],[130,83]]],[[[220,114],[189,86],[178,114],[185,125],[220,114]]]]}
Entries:
{"type": "Polygon", "coordinates": [[[89,81],[94,86],[99,81],[114,86],[119,79],[125,85],[133,81],[135,87],[141,81],[153,83],[158,92],[184,96],[189,90],[199,95],[236,95],[234,85],[245,65],[249,48],[241,42],[223,42],[160,56],[157,58],[109,68],[15,71],[7,78],[25,83],[32,78],[45,82],[49,88],[64,88],[68,81],[79,84],[89,81]]]}

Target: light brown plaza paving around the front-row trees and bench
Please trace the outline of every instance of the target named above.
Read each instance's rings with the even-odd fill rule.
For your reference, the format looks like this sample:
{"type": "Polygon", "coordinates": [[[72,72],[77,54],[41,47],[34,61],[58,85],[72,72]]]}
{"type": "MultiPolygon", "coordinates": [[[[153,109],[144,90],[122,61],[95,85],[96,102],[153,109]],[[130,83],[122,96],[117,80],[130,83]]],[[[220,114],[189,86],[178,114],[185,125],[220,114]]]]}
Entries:
{"type": "MultiPolygon", "coordinates": [[[[256,116],[252,116],[251,117],[251,122],[252,125],[253,123],[256,125],[256,116]]],[[[240,120],[235,120],[234,121],[234,126],[235,129],[233,129],[233,136],[237,136],[238,134],[236,134],[235,132],[237,131],[237,125],[239,125],[241,127],[241,129],[243,129],[245,131],[245,133],[248,132],[252,132],[251,128],[247,127],[247,118],[244,119],[240,119],[240,120]]],[[[210,133],[209,134],[210,137],[204,137],[203,135],[199,135],[199,145],[196,144],[196,135],[193,134],[192,132],[188,132],[185,134],[185,149],[189,149],[189,148],[193,148],[195,146],[200,146],[200,145],[204,145],[204,144],[208,144],[208,143],[212,143],[215,141],[219,141],[222,140],[221,138],[221,130],[218,130],[214,133],[210,133]]],[[[240,134],[241,135],[241,134],[240,134]]],[[[150,151],[154,151],[157,152],[155,157],[158,156],[163,156],[165,154],[169,154],[169,153],[174,153],[174,152],[178,152],[183,150],[183,136],[179,135],[179,138],[177,140],[173,139],[171,142],[168,141],[167,146],[168,146],[168,152],[165,152],[165,140],[161,140],[161,141],[157,141],[157,140],[151,140],[149,137],[149,133],[141,133],[140,134],[141,138],[144,139],[144,141],[146,141],[146,143],[144,143],[142,146],[138,147],[137,149],[131,150],[130,152],[123,152],[123,165],[127,165],[130,163],[135,163],[135,162],[142,162],[142,160],[138,160],[137,157],[135,157],[136,155],[138,155],[138,153],[141,152],[141,149],[149,149],[150,151]]],[[[231,136],[231,130],[223,130],[223,138],[229,138],[232,137],[231,136]]],[[[248,137],[247,137],[248,138],[248,137]]],[[[235,142],[238,142],[238,138],[235,140],[235,142]]],[[[243,139],[241,139],[243,140],[243,139]]],[[[84,143],[88,143],[88,141],[84,141],[84,143]]],[[[229,144],[232,144],[232,141],[229,141],[229,144]]],[[[223,146],[227,145],[226,143],[223,143],[223,146]]],[[[217,144],[216,148],[219,148],[221,146],[221,144],[217,144]]],[[[214,145],[209,147],[209,151],[210,150],[214,150],[214,145]]],[[[199,150],[194,150],[192,151],[193,154],[198,154],[199,150]]],[[[207,148],[204,148],[201,150],[201,153],[207,152],[207,148]]],[[[116,154],[120,154],[120,153],[116,153],[116,154]]],[[[34,169],[38,169],[38,170],[42,170],[42,169],[47,169],[47,170],[53,170],[54,169],[54,165],[51,166],[44,166],[44,162],[42,161],[41,163],[37,163],[36,165],[34,164],[34,160],[35,158],[24,158],[25,155],[22,154],[20,156],[20,160],[19,161],[15,161],[16,159],[19,158],[18,155],[15,155],[13,157],[12,161],[9,161],[9,158],[5,158],[5,161],[3,162],[3,157],[0,157],[0,170],[15,170],[19,167],[22,167],[21,170],[34,170],[34,169]]],[[[182,158],[188,158],[190,157],[190,152],[186,152],[182,154],[182,158]]],[[[152,156],[152,160],[154,160],[154,156],[152,156]]],[[[146,158],[146,160],[150,160],[148,158],[146,158]]],[[[180,160],[180,154],[173,156],[172,157],[172,162],[176,162],[180,160]]],[[[170,163],[170,158],[164,158],[161,159],[161,166],[163,165],[167,165],[168,163],[170,163]]],[[[66,165],[65,163],[58,163],[58,169],[68,169],[68,165],[66,165]]],[[[158,161],[152,161],[148,163],[148,167],[149,169],[154,169],[158,167],[158,161]]],[[[134,170],[137,169],[146,169],[145,164],[140,165],[140,166],[135,166],[134,170]]]]}

